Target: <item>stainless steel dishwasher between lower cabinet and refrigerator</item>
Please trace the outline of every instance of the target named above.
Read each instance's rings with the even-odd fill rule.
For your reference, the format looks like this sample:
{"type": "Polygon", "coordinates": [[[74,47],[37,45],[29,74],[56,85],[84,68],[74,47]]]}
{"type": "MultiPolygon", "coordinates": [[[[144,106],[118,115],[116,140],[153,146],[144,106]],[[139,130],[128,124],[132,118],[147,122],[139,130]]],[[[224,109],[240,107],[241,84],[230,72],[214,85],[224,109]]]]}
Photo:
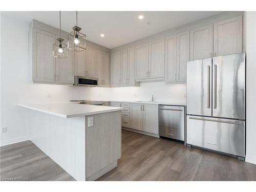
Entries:
{"type": "Polygon", "coordinates": [[[159,136],[184,141],[184,106],[159,105],[159,136]]]}

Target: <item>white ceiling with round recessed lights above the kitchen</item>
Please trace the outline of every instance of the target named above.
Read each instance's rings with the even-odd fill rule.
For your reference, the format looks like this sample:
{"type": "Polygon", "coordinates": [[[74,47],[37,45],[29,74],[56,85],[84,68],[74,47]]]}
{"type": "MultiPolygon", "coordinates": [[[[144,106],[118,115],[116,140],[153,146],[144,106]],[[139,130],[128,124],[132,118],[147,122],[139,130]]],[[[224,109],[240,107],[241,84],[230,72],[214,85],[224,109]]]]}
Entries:
{"type": "MultiPolygon", "coordinates": [[[[58,11],[2,12],[21,20],[32,19],[59,28],[58,11]]],[[[107,48],[115,48],[167,29],[209,17],[217,11],[79,11],[78,27],[87,39],[107,48]],[[142,14],[144,18],[138,19],[142,14]],[[147,23],[150,23],[149,25],[147,23]],[[105,37],[100,37],[103,33],[105,37]]],[[[61,12],[61,28],[70,32],[76,24],[75,11],[61,12]]]]}

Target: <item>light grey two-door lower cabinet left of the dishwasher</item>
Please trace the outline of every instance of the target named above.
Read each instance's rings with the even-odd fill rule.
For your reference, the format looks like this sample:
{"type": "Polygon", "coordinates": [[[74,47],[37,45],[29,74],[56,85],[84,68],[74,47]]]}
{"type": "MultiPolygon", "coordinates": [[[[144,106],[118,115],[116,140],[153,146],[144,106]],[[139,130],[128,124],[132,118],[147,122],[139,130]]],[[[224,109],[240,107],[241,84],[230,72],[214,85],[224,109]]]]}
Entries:
{"type": "Polygon", "coordinates": [[[158,105],[130,103],[130,128],[158,134],[158,105]]]}

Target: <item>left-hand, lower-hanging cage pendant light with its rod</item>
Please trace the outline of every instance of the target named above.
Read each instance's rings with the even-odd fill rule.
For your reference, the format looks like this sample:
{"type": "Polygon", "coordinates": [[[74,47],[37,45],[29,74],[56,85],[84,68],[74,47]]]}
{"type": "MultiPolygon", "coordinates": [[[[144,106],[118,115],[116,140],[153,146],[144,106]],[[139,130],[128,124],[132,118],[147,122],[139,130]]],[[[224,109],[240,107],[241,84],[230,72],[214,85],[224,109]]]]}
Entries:
{"type": "Polygon", "coordinates": [[[53,44],[52,55],[57,58],[65,59],[69,56],[69,50],[66,44],[64,44],[64,39],[61,38],[61,15],[59,11],[59,37],[53,44]]]}

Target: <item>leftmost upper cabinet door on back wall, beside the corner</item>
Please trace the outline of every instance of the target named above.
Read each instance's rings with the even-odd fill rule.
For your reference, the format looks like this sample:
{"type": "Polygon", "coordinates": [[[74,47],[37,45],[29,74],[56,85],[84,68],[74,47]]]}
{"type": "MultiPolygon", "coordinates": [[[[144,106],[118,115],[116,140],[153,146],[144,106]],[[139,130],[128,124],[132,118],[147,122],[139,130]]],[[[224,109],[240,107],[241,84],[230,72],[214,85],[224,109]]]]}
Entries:
{"type": "Polygon", "coordinates": [[[116,52],[111,54],[110,63],[110,79],[111,87],[121,86],[121,52],[116,52]]]}

